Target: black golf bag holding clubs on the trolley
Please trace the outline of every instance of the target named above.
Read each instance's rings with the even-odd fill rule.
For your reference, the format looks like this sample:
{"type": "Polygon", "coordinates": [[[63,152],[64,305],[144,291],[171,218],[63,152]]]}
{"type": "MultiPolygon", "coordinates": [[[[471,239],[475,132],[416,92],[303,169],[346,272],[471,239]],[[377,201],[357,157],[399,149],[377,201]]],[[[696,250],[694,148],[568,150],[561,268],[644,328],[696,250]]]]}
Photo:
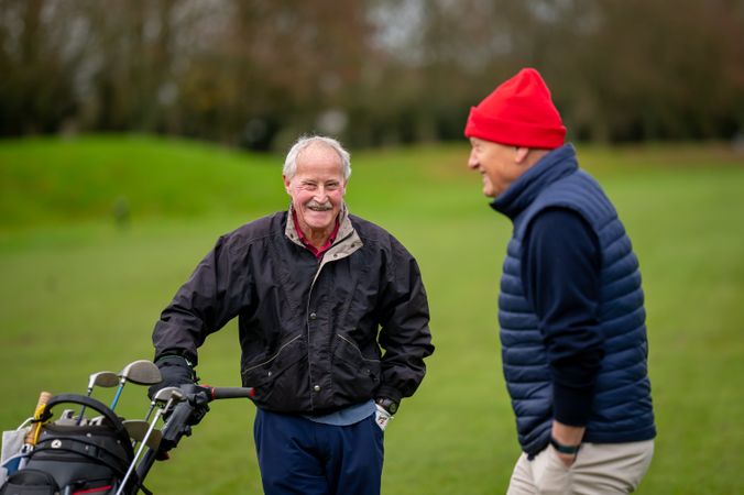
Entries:
{"type": "Polygon", "coordinates": [[[69,418],[45,422],[24,468],[9,476],[0,495],[108,495],[119,487],[134,458],[121,420],[100,402],[76,394],[52,397],[41,420],[48,421],[52,408],[62,404],[92,409],[101,415],[100,422],[79,425],[69,418]]]}

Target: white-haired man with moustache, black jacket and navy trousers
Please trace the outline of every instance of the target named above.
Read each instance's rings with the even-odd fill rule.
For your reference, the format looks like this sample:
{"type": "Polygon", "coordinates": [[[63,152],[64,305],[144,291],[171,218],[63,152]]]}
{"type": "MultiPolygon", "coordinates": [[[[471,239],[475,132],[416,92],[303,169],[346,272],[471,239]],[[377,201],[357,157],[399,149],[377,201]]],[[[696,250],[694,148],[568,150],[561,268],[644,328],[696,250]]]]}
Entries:
{"type": "Polygon", "coordinates": [[[153,333],[160,386],[178,385],[207,336],[239,318],[266,494],[379,494],[383,430],[434,351],[416,261],[349,213],[350,174],[336,140],[297,141],[289,209],[222,235],[153,333]]]}

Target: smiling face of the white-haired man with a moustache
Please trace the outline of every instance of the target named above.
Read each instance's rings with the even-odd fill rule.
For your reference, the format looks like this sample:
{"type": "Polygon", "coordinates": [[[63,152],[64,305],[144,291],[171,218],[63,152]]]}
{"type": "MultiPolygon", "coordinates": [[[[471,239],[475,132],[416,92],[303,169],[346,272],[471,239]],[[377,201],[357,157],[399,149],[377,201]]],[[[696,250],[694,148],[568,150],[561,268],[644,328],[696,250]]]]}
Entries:
{"type": "Polygon", "coordinates": [[[336,227],[346,180],[341,157],[324,143],[313,143],[297,155],[297,169],[284,187],[292,197],[297,223],[311,242],[325,242],[336,227]]]}

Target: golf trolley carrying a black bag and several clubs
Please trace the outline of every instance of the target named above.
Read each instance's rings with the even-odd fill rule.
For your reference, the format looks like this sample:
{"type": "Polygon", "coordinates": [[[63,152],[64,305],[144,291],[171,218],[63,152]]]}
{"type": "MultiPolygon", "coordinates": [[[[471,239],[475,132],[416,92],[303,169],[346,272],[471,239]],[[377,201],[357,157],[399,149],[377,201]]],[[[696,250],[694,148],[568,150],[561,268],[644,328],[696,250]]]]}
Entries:
{"type": "Polygon", "coordinates": [[[143,482],[154,462],[167,459],[167,452],[192,435],[208,403],[253,396],[252,388],[182,385],[156,392],[144,419],[114,414],[127,383],[161,381],[157,366],[141,360],[118,374],[91,374],[87,395],[42,393],[33,418],[3,433],[0,495],[150,494],[143,482]],[[118,387],[110,406],[90,397],[96,386],[118,387]],[[53,420],[62,405],[75,409],[64,409],[53,420]],[[99,416],[86,418],[86,410],[99,416]],[[157,429],[160,419],[164,425],[157,429]]]}

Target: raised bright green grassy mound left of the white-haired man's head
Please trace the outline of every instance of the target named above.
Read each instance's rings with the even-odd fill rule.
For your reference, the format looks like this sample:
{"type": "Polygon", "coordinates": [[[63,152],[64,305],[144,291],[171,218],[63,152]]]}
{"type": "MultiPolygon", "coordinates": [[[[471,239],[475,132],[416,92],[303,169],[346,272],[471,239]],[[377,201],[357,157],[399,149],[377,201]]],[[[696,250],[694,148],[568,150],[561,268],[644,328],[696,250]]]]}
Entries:
{"type": "Polygon", "coordinates": [[[272,158],[138,135],[0,141],[0,227],[112,217],[121,202],[138,218],[260,210],[284,195],[265,187],[272,158]]]}

